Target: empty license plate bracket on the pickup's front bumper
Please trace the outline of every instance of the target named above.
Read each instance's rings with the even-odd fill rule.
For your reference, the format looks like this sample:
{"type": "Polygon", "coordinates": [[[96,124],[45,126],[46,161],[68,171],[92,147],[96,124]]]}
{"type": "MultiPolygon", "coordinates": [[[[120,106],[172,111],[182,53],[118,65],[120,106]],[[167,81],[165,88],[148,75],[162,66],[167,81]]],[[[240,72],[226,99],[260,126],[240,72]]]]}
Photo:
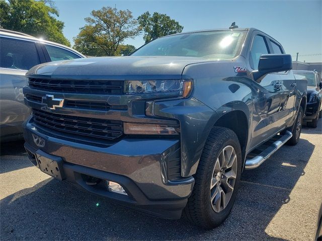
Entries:
{"type": "Polygon", "coordinates": [[[37,163],[39,165],[39,169],[42,172],[60,181],[65,179],[65,175],[62,168],[63,161],[61,157],[47,154],[41,150],[38,150],[35,154],[37,163]]]}

